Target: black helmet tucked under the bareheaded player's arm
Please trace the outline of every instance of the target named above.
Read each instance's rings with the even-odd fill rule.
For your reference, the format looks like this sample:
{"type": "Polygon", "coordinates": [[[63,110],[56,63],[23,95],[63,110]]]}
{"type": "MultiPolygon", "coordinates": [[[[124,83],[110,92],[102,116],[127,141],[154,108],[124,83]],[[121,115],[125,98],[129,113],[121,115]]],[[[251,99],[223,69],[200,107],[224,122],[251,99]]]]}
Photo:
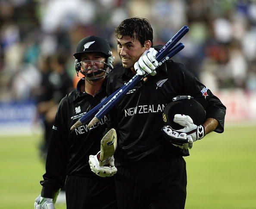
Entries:
{"type": "Polygon", "coordinates": [[[163,111],[164,125],[170,125],[173,129],[184,128],[178,123],[173,122],[175,114],[189,115],[195,125],[202,125],[206,119],[206,112],[203,106],[190,96],[177,96],[172,102],[165,106],[163,111]]]}

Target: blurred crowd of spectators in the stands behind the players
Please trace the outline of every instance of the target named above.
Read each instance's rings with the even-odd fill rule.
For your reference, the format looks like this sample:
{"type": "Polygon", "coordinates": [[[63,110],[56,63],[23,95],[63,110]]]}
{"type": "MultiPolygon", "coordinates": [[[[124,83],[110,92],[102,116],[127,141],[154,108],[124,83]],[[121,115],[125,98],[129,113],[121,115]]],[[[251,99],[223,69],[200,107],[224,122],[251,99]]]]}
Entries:
{"type": "Polygon", "coordinates": [[[211,90],[256,90],[254,0],[0,0],[0,101],[41,98],[46,73],[56,87],[65,72],[74,87],[72,55],[88,35],[109,40],[118,65],[113,31],[133,16],[149,19],[154,45],[188,25],[174,59],[211,90]],[[58,54],[65,56],[59,75],[58,54]]]}

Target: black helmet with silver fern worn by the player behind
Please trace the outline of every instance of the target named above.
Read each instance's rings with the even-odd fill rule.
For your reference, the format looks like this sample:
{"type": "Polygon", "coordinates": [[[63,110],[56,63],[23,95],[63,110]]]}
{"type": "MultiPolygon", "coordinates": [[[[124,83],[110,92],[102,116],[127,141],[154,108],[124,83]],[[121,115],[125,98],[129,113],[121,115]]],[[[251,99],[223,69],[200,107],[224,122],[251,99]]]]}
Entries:
{"type": "MultiPolygon", "coordinates": [[[[83,38],[81,41],[79,41],[77,48],[76,48],[76,53],[74,53],[75,57],[75,70],[77,72],[77,75],[79,72],[82,72],[82,74],[86,74],[83,71],[81,71],[81,56],[83,53],[88,53],[88,52],[99,52],[103,53],[103,55],[106,56],[106,61],[104,62],[106,64],[105,69],[96,69],[96,73],[91,73],[90,75],[88,74],[84,79],[97,79],[94,78],[94,75],[100,74],[100,71],[104,71],[108,73],[111,69],[113,69],[113,61],[114,57],[112,56],[112,51],[109,46],[109,43],[97,36],[89,36],[83,38]],[[99,71],[100,70],[100,71],[99,71]]],[[[79,77],[79,75],[78,75],[79,77]]]]}

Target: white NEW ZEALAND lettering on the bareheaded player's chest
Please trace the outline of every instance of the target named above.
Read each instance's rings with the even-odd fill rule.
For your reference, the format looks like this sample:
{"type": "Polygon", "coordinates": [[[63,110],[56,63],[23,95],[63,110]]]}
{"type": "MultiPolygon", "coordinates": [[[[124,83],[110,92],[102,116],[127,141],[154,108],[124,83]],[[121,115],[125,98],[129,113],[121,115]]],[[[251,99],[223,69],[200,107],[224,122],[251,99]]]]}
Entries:
{"type": "Polygon", "coordinates": [[[125,117],[132,116],[135,114],[163,112],[164,108],[165,108],[164,104],[139,105],[139,106],[125,109],[125,117]]]}

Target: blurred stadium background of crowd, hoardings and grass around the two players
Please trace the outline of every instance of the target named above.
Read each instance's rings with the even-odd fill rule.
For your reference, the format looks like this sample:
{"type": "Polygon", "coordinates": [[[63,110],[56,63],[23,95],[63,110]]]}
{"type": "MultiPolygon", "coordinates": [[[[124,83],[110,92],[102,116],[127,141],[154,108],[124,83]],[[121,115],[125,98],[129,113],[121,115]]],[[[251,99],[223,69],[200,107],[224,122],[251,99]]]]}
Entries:
{"type": "Polygon", "coordinates": [[[255,0],[0,0],[0,209],[33,208],[41,192],[37,102],[49,60],[64,55],[75,86],[76,44],[99,35],[109,40],[118,65],[113,31],[134,16],[149,19],[154,45],[188,25],[185,48],[173,59],[227,107],[225,132],[194,143],[186,158],[186,209],[255,208],[255,0]]]}

